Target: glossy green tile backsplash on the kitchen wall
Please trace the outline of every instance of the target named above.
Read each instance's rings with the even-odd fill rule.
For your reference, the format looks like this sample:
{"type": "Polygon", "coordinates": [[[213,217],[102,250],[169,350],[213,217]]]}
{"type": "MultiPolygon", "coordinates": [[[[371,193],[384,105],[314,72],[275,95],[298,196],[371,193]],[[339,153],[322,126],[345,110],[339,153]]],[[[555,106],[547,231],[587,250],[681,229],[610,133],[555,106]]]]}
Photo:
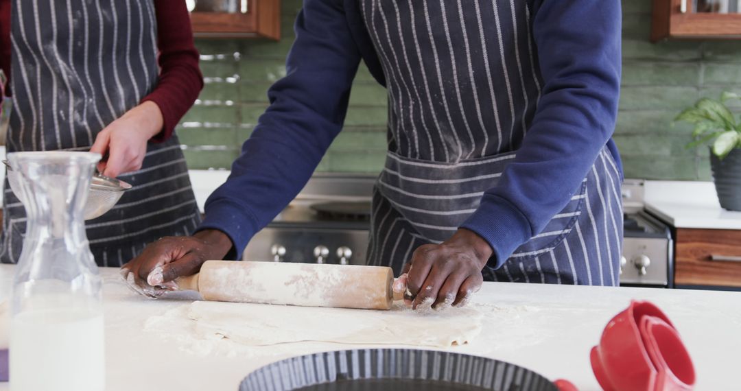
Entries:
{"type": "MultiPolygon", "coordinates": [[[[206,85],[178,134],[191,168],[228,168],[260,114],[266,92],[285,75],[300,0],[282,0],[279,42],[199,39],[206,85]]],[[[686,150],[691,128],[671,125],[701,96],[741,92],[741,42],[667,41],[652,44],[651,1],[623,0],[623,78],[615,130],[628,178],[708,180],[708,150],[686,150]]],[[[585,32],[586,33],[586,32],[585,32]]],[[[386,147],[386,90],[361,65],[345,129],[319,170],[377,173],[386,147]]],[[[741,104],[737,107],[741,110],[741,104]]]]}

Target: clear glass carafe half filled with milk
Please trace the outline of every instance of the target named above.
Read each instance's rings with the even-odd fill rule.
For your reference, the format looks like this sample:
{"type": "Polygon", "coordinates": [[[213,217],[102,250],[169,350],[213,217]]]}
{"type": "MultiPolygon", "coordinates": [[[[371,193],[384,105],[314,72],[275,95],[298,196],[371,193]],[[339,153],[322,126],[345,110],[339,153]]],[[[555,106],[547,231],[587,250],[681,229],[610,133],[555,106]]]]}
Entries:
{"type": "Polygon", "coordinates": [[[13,281],[10,390],[104,390],[102,279],[82,216],[100,155],[7,158],[27,215],[13,281]]]}

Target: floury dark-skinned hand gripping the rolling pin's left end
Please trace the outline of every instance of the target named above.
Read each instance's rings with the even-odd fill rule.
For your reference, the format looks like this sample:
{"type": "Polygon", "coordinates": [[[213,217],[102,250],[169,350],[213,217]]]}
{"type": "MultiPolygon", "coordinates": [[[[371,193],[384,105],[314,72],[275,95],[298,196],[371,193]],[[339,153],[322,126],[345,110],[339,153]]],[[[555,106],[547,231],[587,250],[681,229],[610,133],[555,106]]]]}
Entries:
{"type": "Polygon", "coordinates": [[[205,261],[223,259],[231,247],[231,239],[219,230],[161,238],[124,264],[121,276],[137,293],[157,298],[178,289],[175,278],[198,273],[205,261]]]}

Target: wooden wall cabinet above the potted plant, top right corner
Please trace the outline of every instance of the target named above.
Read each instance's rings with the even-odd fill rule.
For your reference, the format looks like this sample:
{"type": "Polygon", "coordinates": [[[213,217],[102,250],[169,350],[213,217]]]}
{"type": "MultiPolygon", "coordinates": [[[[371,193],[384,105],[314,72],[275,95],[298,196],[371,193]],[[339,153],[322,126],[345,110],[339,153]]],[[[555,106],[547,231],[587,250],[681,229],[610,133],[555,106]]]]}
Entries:
{"type": "Polygon", "coordinates": [[[651,41],[741,39],[741,13],[694,12],[697,1],[702,0],[654,0],[651,41]]]}

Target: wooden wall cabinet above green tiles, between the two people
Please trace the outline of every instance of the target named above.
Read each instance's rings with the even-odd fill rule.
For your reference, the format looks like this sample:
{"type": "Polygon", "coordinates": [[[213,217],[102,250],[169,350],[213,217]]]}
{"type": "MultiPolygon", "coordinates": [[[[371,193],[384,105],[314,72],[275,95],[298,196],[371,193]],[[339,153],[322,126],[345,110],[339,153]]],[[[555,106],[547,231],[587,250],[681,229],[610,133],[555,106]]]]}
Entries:
{"type": "Polygon", "coordinates": [[[195,8],[190,13],[193,35],[201,38],[280,39],[280,0],[237,2],[242,3],[238,7],[244,7],[246,12],[206,12],[204,6],[199,8],[196,0],[195,8]]]}

